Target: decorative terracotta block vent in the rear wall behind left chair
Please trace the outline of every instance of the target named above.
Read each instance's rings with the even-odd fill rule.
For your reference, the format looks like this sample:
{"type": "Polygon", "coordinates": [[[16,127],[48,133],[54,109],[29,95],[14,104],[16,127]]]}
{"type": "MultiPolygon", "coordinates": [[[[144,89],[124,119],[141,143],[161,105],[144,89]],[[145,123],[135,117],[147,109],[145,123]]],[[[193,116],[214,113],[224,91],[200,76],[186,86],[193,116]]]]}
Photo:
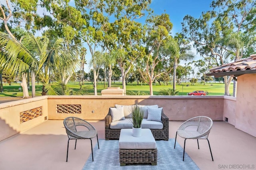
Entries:
{"type": "Polygon", "coordinates": [[[56,106],[57,113],[73,113],[81,114],[81,105],[80,104],[57,104],[56,106]]]}

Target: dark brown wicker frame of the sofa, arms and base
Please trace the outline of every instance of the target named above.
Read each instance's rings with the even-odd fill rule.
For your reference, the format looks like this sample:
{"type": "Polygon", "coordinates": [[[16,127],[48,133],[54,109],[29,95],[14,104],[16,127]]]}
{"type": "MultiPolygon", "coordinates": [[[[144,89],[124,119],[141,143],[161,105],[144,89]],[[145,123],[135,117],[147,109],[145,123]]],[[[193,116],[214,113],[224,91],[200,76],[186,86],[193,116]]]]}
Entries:
{"type": "MultiPolygon", "coordinates": [[[[112,129],[111,126],[110,126],[110,124],[112,123],[112,115],[111,115],[111,109],[110,108],[108,110],[108,114],[105,117],[105,139],[106,140],[119,139],[121,129],[123,129],[123,128],[132,128],[132,127],[123,127],[123,128],[120,128],[120,129],[112,129]]],[[[125,118],[125,120],[121,120],[121,121],[126,121],[127,122],[127,119],[129,119],[129,118],[125,118]]],[[[162,113],[161,113],[161,120],[162,120],[162,129],[153,129],[153,128],[151,129],[151,128],[148,128],[148,127],[146,127],[146,128],[151,130],[152,135],[154,136],[154,138],[156,140],[168,141],[168,139],[169,139],[169,118],[164,114],[163,110],[162,110],[162,113]]],[[[145,119],[145,122],[150,123],[150,121],[146,121],[146,119],[145,119]]],[[[151,121],[151,122],[152,122],[152,124],[155,123],[155,121],[151,121]]],[[[142,121],[142,125],[143,125],[143,121],[142,121]]],[[[154,127],[154,125],[152,127],[154,127]]],[[[142,126],[142,128],[143,128],[143,126],[142,126]]]]}

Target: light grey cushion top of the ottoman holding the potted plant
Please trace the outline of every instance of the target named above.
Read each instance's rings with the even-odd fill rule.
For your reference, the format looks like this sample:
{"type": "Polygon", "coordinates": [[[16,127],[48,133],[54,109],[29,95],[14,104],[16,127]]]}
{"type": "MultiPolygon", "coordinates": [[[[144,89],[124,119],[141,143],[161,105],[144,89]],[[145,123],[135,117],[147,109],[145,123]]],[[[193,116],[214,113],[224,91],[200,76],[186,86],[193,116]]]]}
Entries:
{"type": "Polygon", "coordinates": [[[150,129],[141,130],[141,137],[133,137],[132,129],[121,129],[119,149],[156,149],[156,141],[150,129]]]}

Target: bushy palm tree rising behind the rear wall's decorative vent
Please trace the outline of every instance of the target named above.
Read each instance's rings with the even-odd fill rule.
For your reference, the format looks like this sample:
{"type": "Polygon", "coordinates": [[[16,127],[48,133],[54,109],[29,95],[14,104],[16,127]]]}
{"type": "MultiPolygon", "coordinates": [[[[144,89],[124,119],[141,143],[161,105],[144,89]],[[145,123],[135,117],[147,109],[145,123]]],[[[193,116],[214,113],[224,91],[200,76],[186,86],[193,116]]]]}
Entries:
{"type": "Polygon", "coordinates": [[[46,95],[45,86],[50,84],[50,75],[58,73],[62,82],[67,84],[79,63],[80,45],[65,47],[64,39],[58,38],[56,32],[46,31],[40,38],[40,61],[37,74],[43,84],[42,95],[46,95]]]}

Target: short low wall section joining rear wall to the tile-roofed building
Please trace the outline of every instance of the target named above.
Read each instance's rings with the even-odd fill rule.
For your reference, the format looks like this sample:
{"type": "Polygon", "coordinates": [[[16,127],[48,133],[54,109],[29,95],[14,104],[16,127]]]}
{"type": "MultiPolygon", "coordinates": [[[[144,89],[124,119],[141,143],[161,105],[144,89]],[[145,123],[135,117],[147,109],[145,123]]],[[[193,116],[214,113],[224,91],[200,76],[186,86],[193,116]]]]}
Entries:
{"type": "Polygon", "coordinates": [[[232,96],[224,96],[223,121],[228,118],[228,123],[236,125],[236,98],[232,96]]]}

